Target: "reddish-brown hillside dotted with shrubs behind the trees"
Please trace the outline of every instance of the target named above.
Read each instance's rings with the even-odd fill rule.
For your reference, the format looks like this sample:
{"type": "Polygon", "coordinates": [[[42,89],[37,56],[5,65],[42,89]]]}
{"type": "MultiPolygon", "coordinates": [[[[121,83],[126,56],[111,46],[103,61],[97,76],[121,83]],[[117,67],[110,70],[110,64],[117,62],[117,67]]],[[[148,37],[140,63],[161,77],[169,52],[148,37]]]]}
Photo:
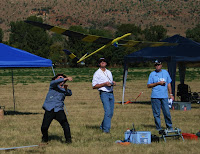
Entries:
{"type": "Polygon", "coordinates": [[[81,25],[115,31],[125,23],[142,28],[163,25],[169,36],[185,36],[188,28],[200,23],[200,0],[1,0],[0,4],[4,40],[8,40],[11,21],[31,15],[65,28],[81,25]]]}

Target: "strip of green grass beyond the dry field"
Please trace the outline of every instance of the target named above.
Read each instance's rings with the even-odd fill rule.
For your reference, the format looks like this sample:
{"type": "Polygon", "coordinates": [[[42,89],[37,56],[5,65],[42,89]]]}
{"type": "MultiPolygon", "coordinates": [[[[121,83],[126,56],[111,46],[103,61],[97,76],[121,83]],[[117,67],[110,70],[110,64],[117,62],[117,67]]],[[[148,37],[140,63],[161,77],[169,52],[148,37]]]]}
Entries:
{"type": "MultiPolygon", "coordinates": [[[[93,74],[98,68],[55,68],[55,73],[64,73],[72,76],[74,82],[91,82],[93,74]]],[[[108,68],[116,82],[123,80],[123,68],[108,68]]],[[[166,69],[166,68],[164,68],[166,69]]],[[[53,72],[51,68],[16,68],[0,69],[0,84],[6,85],[12,83],[12,71],[15,83],[45,83],[51,81],[53,72]]],[[[129,68],[127,81],[147,80],[153,68],[129,68]]],[[[186,81],[198,80],[200,77],[200,68],[189,68],[186,70],[186,81]]],[[[176,81],[179,81],[177,70],[176,81]]]]}

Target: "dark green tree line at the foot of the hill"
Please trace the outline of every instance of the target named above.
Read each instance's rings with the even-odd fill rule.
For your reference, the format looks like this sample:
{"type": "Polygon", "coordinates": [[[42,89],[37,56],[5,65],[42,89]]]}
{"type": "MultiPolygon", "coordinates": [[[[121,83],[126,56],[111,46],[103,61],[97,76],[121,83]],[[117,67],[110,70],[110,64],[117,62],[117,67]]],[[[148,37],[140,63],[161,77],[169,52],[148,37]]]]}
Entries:
{"type": "MultiPolygon", "coordinates": [[[[30,16],[27,20],[43,23],[43,19],[36,16],[30,16]]],[[[117,27],[116,32],[109,30],[84,28],[82,26],[71,26],[69,30],[76,32],[98,35],[107,38],[115,38],[126,33],[132,33],[128,40],[138,41],[161,41],[167,38],[167,30],[162,25],[154,25],[142,29],[135,24],[121,24],[117,27]]],[[[200,24],[193,29],[188,29],[186,37],[196,42],[200,42],[200,24]]],[[[0,42],[3,42],[3,30],[0,28],[0,42]]],[[[10,35],[7,42],[3,42],[15,48],[25,50],[35,55],[51,59],[55,65],[59,66],[76,66],[72,60],[65,55],[63,49],[68,49],[77,57],[82,57],[85,53],[91,53],[102,45],[94,43],[85,43],[56,33],[50,33],[41,28],[32,26],[24,21],[10,23],[10,35]]],[[[134,51],[140,50],[140,47],[126,48],[110,46],[86,60],[88,66],[96,66],[96,61],[100,57],[105,57],[111,66],[123,65],[124,56],[134,51]]]]}

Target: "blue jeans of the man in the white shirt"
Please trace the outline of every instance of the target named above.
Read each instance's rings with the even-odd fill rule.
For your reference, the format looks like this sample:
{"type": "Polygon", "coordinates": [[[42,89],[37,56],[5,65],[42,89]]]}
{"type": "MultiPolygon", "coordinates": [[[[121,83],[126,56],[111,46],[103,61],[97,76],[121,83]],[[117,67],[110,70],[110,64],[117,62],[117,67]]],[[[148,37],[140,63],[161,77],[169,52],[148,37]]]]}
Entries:
{"type": "Polygon", "coordinates": [[[104,119],[100,128],[103,130],[103,132],[109,133],[111,127],[111,119],[114,112],[114,95],[112,92],[100,92],[100,98],[104,108],[104,119]]]}

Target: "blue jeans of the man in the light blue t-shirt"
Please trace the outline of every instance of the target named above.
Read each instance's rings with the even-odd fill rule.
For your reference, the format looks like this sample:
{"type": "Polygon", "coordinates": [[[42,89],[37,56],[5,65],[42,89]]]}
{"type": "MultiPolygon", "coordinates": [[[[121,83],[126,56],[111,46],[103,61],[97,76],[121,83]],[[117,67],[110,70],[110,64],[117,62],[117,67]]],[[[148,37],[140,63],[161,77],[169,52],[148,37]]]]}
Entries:
{"type": "Polygon", "coordinates": [[[162,108],[165,124],[168,129],[172,128],[172,120],[168,106],[167,98],[151,98],[151,105],[153,110],[153,116],[156,124],[156,129],[161,130],[161,121],[160,121],[160,109],[162,108]]]}

